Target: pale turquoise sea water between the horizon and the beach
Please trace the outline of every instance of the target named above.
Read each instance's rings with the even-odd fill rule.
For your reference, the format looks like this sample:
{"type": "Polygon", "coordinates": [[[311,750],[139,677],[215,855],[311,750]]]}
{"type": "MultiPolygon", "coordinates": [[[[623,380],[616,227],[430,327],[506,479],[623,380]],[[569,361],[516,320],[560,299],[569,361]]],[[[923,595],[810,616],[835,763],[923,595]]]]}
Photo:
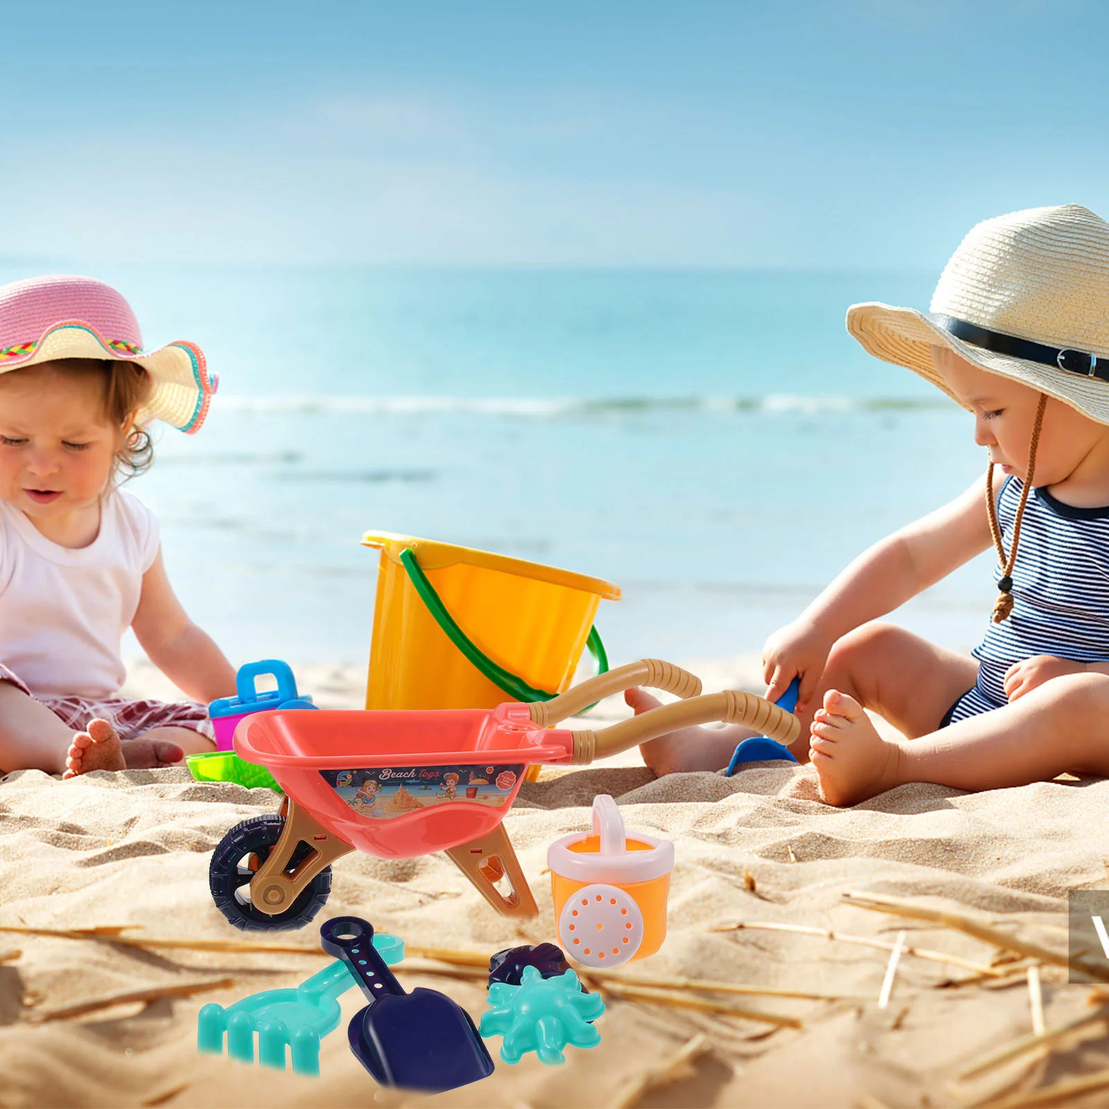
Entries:
{"type": "MultiPolygon", "coordinates": [[[[28,263],[116,285],[147,347],[221,376],[131,488],[171,580],[236,662],[364,662],[367,529],[610,579],[614,661],[757,651],[866,545],[958,495],[970,417],[844,330],[933,275],[28,263]]],[[[980,634],[987,553],[897,618],[980,634]]]]}

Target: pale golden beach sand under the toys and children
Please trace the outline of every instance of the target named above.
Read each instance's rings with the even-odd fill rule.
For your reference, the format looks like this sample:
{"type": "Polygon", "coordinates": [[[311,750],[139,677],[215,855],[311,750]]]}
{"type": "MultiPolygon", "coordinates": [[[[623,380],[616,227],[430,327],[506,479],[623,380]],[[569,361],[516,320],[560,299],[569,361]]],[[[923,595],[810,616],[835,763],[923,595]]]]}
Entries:
{"type": "MultiPolygon", "coordinates": [[[[706,689],[759,689],[755,660],[690,660],[706,689]]],[[[130,688],[159,694],[149,665],[130,688]]],[[[298,668],[302,689],[328,708],[360,703],[360,672],[298,668]]],[[[600,718],[624,712],[604,703],[600,718]]],[[[796,1018],[780,1027],[731,1015],[608,997],[591,1050],[568,1049],[560,1068],[528,1056],[517,1066],[488,1047],[496,1074],[435,1098],[379,1089],[352,1056],[345,1025],[364,1004],[343,998],[344,1020],[326,1038],[322,1077],[307,1078],[196,1050],[196,1015],[261,989],[293,986],[325,965],[321,954],[144,950],[109,942],[0,932],[0,1106],[750,1106],[863,1107],[973,1103],[991,1090],[1019,1091],[1109,1067],[1105,1028],[1088,1026],[1050,1056],[1024,1055],[953,1087],[971,1064],[1031,1028],[1024,964],[998,964],[989,987],[967,966],[905,954],[888,1005],[878,996],[887,947],[784,930],[715,930],[735,924],[834,929],[893,944],[905,929],[915,949],[977,966],[990,943],[844,902],[849,891],[973,913],[1014,935],[1066,950],[1067,893],[1105,888],[1109,782],[1059,780],[964,794],[902,786],[851,810],[822,804],[811,767],[763,763],[733,779],[673,775],[654,781],[634,752],[614,764],[546,770],[526,783],[506,827],[540,905],[538,919],[492,913],[442,855],[386,862],[348,855],[317,917],[356,914],[409,945],[487,957],[554,939],[547,845],[588,826],[597,793],[621,804],[630,830],[673,841],[676,865],[669,935],[654,957],[622,968],[831,995],[838,1000],[679,994],[796,1018]],[[997,975],[1000,974],[1000,977],[997,975]],[[49,1018],[68,1006],[155,986],[224,988],[149,1006],[118,1005],[49,1018]],[[959,985],[959,983],[963,983],[959,985]],[[699,1035],[703,1049],[669,1085],[643,1088],[652,1070],[699,1035]],[[1014,1085],[1016,1083],[1016,1085],[1014,1085]]],[[[133,925],[133,936],[318,942],[299,933],[245,936],[220,915],[207,888],[212,848],[235,823],[273,812],[275,794],[193,782],[184,770],[94,773],[61,782],[39,772],[0,781],[0,925],[89,928],[133,925]]],[[[419,960],[413,959],[417,967],[419,960]]],[[[425,963],[426,965],[426,963],[425,963]]],[[[400,969],[407,988],[440,989],[479,1019],[479,980],[400,969]]],[[[1091,988],[1066,971],[1042,971],[1048,1029],[1091,1011],[1091,988]]],[[[1095,1090],[1066,1102],[1106,1105],[1095,1090]]]]}

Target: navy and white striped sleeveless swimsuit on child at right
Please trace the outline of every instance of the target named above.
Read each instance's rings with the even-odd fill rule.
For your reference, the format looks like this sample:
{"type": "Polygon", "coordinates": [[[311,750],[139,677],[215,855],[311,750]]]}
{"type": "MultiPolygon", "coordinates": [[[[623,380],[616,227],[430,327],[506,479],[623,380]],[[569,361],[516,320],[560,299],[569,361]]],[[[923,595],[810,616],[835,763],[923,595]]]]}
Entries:
{"type": "MultiPolygon", "coordinates": [[[[1006,550],[1021,488],[1019,478],[1009,477],[997,499],[1006,550]]],[[[995,567],[994,580],[1000,577],[1001,568],[995,567]]],[[[970,652],[979,662],[978,681],[952,705],[940,728],[1008,704],[1001,683],[1021,659],[1050,654],[1109,661],[1109,507],[1071,508],[1034,486],[1020,525],[1013,598],[1009,619],[990,623],[970,652]]]]}

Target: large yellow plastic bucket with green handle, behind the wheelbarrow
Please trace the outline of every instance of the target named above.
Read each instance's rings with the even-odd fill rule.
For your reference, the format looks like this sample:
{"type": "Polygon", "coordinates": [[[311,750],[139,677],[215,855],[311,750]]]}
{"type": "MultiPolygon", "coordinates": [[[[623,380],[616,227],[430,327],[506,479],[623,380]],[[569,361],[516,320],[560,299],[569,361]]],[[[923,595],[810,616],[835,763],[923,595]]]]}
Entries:
{"type": "Polygon", "coordinates": [[[468,547],[387,531],[362,542],[381,552],[367,709],[491,709],[561,693],[593,642],[601,598],[620,599],[600,578],[468,547]]]}

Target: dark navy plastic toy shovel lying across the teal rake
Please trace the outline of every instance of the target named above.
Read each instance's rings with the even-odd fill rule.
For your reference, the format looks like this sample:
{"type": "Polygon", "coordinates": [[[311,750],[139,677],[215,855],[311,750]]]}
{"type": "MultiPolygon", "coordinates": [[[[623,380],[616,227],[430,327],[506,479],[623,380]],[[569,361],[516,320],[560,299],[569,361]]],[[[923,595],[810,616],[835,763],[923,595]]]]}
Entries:
{"type": "Polygon", "coordinates": [[[439,1093],[488,1078],[492,1059],[469,1014],[435,989],[406,994],[377,953],[374,929],[337,916],[319,929],[328,955],[343,959],[369,1005],[347,1026],[355,1058],[381,1083],[439,1093]]]}

